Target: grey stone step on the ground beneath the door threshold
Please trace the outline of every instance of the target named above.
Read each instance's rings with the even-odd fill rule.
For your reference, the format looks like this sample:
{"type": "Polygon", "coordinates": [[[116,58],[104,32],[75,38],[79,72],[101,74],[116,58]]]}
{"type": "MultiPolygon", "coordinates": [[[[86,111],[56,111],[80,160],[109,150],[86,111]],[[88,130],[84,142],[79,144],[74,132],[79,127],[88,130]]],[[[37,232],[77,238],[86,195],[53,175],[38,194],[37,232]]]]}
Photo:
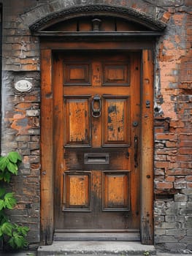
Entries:
{"type": "Polygon", "coordinates": [[[54,241],[50,246],[39,246],[37,256],[50,255],[156,255],[153,245],[131,241],[54,241]]]}

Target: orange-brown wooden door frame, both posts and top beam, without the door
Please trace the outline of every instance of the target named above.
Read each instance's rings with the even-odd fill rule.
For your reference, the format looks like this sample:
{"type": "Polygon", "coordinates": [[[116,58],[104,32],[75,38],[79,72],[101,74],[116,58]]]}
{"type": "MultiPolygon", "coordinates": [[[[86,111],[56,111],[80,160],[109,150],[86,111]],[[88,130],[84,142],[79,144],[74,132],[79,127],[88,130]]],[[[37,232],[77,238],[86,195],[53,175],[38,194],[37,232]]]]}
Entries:
{"type": "MultiPolygon", "coordinates": [[[[54,50],[140,50],[142,52],[141,80],[141,206],[140,232],[142,244],[153,244],[153,45],[154,42],[138,40],[117,42],[58,42],[49,38],[41,40],[41,244],[52,244],[54,166],[62,171],[61,157],[54,157],[53,123],[53,51],[54,50]]],[[[62,104],[59,102],[58,104],[62,104]]]]}

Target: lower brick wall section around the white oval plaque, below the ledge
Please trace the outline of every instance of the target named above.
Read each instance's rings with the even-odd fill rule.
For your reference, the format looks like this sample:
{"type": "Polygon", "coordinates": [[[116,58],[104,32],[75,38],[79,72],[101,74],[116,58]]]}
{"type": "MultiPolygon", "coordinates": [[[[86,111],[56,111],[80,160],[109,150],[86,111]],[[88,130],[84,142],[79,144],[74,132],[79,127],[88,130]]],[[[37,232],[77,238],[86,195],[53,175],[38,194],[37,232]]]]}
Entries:
{"type": "Polygon", "coordinates": [[[1,154],[16,150],[23,157],[19,174],[11,181],[18,201],[11,220],[30,227],[31,246],[39,243],[39,83],[39,72],[3,73],[1,154]],[[15,80],[23,78],[34,85],[28,94],[13,88],[15,80]]]}

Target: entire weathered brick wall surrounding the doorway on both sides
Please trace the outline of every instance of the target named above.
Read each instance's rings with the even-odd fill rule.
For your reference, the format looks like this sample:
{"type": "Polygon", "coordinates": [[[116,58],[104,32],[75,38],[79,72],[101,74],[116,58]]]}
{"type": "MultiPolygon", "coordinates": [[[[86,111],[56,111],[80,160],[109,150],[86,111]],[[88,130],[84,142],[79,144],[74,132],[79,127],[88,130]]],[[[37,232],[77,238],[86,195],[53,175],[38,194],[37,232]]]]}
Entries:
{"type": "Polygon", "coordinates": [[[167,23],[155,45],[155,246],[192,251],[192,4],[191,0],[4,0],[2,154],[23,155],[12,179],[18,206],[12,219],[28,223],[28,240],[39,243],[39,39],[28,26],[45,15],[85,4],[133,7],[167,23]],[[30,80],[30,92],[14,83],[30,80]],[[177,230],[176,230],[177,229],[177,230]]]}

